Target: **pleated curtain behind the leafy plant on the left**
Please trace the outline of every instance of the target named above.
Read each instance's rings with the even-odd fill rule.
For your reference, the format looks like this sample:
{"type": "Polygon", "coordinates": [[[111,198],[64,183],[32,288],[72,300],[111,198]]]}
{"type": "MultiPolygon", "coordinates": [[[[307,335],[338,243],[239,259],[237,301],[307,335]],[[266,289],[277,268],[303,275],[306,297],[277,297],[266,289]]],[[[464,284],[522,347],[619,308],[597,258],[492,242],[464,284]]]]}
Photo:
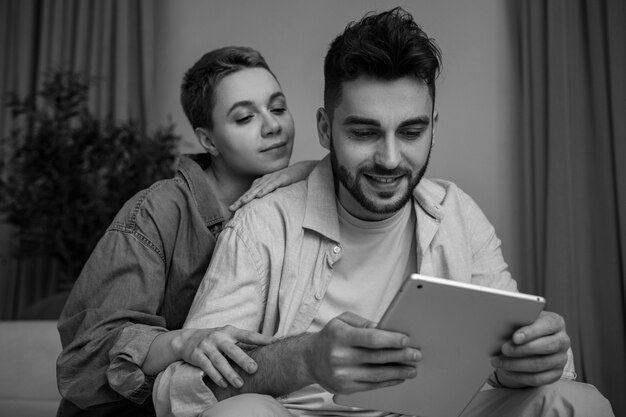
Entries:
{"type": "MultiPolygon", "coordinates": [[[[152,102],[154,2],[151,0],[0,1],[0,92],[36,91],[49,69],[80,72],[93,80],[90,106],[99,116],[145,125],[152,102]]],[[[0,133],[13,128],[0,111],[0,133]]],[[[3,149],[1,158],[10,150],[3,149]]],[[[15,261],[11,230],[0,227],[0,319],[20,316],[59,290],[48,259],[15,261]]]]}

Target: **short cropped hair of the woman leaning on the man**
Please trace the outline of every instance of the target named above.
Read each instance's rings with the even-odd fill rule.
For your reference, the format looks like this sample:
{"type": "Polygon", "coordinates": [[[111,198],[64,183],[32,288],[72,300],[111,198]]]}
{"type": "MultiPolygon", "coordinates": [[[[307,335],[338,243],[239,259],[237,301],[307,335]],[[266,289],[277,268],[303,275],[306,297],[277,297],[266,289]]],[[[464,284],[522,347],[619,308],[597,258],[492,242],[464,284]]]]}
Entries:
{"type": "Polygon", "coordinates": [[[258,51],[243,46],[227,46],[207,52],[187,70],[180,102],[191,127],[213,127],[211,113],[217,84],[225,76],[245,68],[265,68],[274,75],[258,51]]]}

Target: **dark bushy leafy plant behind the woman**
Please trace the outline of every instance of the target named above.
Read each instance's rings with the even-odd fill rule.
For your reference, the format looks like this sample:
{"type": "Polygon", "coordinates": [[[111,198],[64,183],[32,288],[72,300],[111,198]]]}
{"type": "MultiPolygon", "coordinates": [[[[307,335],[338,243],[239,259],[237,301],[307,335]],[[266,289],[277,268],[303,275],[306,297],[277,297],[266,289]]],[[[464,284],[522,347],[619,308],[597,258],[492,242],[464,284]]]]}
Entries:
{"type": "Polygon", "coordinates": [[[0,215],[14,226],[13,255],[47,256],[68,290],[116,212],[175,172],[173,125],[148,135],[135,121],[98,118],[80,74],[51,71],[34,97],[9,94],[11,134],[0,146],[0,215]]]}

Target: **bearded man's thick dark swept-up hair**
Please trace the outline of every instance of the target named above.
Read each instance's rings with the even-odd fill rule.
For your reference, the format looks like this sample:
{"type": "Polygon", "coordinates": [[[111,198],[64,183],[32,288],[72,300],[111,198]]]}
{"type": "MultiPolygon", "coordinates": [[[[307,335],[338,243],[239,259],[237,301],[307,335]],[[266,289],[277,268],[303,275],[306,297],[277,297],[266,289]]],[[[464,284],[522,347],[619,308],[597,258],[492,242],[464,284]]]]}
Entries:
{"type": "Polygon", "coordinates": [[[414,77],[428,86],[435,101],[441,51],[413,16],[400,7],[366,14],[348,24],[331,43],[324,60],[324,107],[332,117],[341,84],[362,75],[383,80],[414,77]]]}

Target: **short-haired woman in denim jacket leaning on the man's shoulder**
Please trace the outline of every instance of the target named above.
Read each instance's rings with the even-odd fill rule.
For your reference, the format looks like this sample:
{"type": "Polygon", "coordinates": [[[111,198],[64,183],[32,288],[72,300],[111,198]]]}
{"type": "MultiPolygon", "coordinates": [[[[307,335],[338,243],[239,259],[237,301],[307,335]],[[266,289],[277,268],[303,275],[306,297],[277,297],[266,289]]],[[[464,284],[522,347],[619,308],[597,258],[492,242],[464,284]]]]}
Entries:
{"type": "Polygon", "coordinates": [[[304,178],[312,165],[287,168],[293,119],[255,50],[205,54],[181,90],[207,155],[202,165],[183,158],[175,178],[129,200],[85,264],[59,320],[58,415],[154,415],[154,377],[177,360],[241,386],[225,357],[255,372],[236,343],[271,342],[231,327],[181,327],[231,210],[304,178]]]}

